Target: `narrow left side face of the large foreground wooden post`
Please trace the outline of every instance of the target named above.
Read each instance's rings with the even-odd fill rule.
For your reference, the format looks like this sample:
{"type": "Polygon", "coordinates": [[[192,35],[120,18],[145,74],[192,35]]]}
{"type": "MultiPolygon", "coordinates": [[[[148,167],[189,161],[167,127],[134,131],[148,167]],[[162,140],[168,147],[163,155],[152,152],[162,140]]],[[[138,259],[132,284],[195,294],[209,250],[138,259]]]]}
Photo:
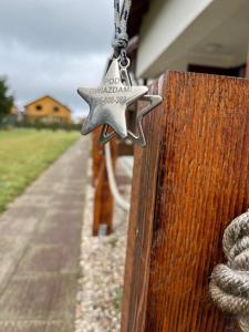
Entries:
{"type": "MultiPolygon", "coordinates": [[[[163,77],[159,81],[159,91],[163,85],[163,77]]],[[[151,93],[158,93],[158,86],[155,84],[151,87],[151,93]]],[[[144,103],[139,103],[138,108],[143,108],[144,103]]],[[[147,294],[147,277],[148,277],[148,259],[152,238],[152,225],[154,205],[151,204],[155,199],[155,184],[157,175],[157,158],[160,123],[163,116],[163,107],[156,107],[146,116],[145,132],[148,138],[147,147],[135,147],[135,163],[132,187],[132,206],[129,212],[128,241],[125,264],[125,283],[122,309],[122,332],[136,331],[137,322],[145,319],[146,312],[146,294],[147,294]],[[156,116],[155,116],[156,114],[156,116]],[[149,134],[148,134],[149,133],[149,134]],[[149,152],[148,154],[146,153],[149,152]],[[146,165],[152,165],[151,173],[146,173],[146,165]],[[152,184],[154,183],[154,186],[152,184]],[[142,193],[147,193],[142,204],[142,193]],[[148,204],[147,204],[148,203],[148,204]],[[134,291],[136,290],[136,291],[134,291]],[[141,298],[138,298],[141,295],[141,298]],[[139,304],[138,304],[139,302],[139,304]],[[132,303],[132,305],[131,305],[132,303]],[[135,312],[134,308],[139,307],[139,312],[135,312]],[[137,320],[134,315],[137,315],[137,320]]]]}

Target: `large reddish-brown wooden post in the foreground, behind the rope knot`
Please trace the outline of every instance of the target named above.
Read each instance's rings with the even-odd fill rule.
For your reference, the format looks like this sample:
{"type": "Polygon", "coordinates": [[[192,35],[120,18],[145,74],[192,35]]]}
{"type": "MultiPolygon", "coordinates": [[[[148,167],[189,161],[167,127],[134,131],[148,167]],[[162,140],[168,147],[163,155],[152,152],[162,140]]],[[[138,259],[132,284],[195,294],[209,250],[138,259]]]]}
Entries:
{"type": "Polygon", "coordinates": [[[208,282],[249,208],[249,81],[169,72],[159,90],[135,152],[122,332],[235,331],[208,282]]]}

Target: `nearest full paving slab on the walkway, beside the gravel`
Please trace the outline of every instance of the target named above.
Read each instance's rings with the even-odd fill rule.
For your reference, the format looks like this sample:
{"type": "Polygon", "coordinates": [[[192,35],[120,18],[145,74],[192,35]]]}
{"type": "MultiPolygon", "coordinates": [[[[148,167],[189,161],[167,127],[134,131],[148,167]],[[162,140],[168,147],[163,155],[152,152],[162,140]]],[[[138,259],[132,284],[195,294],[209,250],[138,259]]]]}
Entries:
{"type": "Polygon", "coordinates": [[[76,276],[14,277],[0,298],[0,320],[63,320],[73,317],[76,276]]]}

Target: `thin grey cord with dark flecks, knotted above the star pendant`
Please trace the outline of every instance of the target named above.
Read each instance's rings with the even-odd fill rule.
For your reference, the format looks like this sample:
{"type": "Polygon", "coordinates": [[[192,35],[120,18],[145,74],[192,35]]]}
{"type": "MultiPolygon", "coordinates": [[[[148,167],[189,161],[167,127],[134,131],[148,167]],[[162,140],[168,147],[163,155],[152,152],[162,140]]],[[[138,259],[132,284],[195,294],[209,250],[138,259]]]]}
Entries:
{"type": "Polygon", "coordinates": [[[123,11],[121,13],[120,0],[114,0],[114,20],[115,20],[115,38],[113,49],[115,56],[122,58],[122,63],[126,60],[126,49],[128,45],[127,21],[132,0],[124,0],[123,11]]]}

